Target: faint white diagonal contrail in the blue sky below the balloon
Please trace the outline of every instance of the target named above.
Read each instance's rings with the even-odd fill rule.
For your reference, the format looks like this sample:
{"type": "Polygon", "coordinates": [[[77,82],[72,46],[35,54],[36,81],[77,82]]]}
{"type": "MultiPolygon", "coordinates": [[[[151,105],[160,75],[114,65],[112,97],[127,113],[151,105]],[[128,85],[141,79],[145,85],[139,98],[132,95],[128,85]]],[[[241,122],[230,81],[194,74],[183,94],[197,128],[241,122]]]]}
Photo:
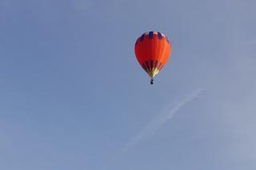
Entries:
{"type": "Polygon", "coordinates": [[[148,122],[146,126],[142,128],[142,130],[140,130],[137,135],[133,136],[131,140],[125,145],[125,147],[122,148],[121,154],[129,151],[140,141],[145,140],[147,137],[154,134],[163,125],[166,125],[167,121],[170,121],[179,109],[182,109],[182,107],[184,107],[189,102],[194,101],[194,99],[196,99],[203,91],[204,89],[196,89],[183,101],[175,105],[174,108],[167,108],[166,111],[164,111],[164,114],[160,115],[159,117],[155,117],[152,121],[148,122]]]}

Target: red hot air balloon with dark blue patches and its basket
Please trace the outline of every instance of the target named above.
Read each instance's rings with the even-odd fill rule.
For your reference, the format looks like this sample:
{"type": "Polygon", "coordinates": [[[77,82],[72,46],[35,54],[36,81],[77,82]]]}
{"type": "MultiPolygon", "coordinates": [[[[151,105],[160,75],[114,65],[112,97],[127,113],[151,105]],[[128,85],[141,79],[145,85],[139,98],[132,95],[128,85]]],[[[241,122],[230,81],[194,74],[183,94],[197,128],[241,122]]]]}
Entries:
{"type": "Polygon", "coordinates": [[[135,55],[142,68],[151,77],[150,84],[154,84],[154,77],[167,64],[171,45],[166,35],[150,31],[142,34],[135,43],[135,55]]]}

